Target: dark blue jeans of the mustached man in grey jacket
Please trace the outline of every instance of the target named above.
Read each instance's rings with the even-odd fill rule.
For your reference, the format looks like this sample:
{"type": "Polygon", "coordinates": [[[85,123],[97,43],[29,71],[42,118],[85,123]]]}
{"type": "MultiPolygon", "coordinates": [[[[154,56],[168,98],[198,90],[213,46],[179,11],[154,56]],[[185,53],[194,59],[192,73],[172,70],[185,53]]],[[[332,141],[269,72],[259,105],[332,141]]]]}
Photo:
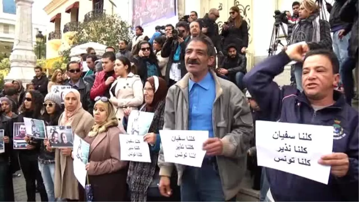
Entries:
{"type": "MultiPolygon", "coordinates": [[[[216,165],[208,159],[202,167],[187,166],[182,175],[181,202],[224,202],[222,183],[216,165]]],[[[236,202],[236,197],[229,202],[236,202]]]]}

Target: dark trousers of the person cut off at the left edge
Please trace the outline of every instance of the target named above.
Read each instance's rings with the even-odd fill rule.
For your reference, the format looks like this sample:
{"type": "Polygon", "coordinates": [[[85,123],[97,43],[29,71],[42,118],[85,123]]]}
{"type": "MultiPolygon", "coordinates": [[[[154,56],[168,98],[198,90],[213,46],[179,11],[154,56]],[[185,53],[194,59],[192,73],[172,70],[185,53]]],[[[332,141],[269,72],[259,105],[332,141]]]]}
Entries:
{"type": "Polygon", "coordinates": [[[9,162],[0,160],[0,202],[14,202],[13,175],[9,162]]]}

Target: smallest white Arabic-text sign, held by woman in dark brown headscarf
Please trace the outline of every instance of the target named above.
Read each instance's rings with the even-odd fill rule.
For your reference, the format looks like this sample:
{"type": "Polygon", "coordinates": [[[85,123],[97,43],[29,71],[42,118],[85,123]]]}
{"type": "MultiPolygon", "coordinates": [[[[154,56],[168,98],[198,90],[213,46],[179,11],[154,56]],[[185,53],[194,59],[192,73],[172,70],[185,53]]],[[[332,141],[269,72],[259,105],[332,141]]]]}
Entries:
{"type": "Polygon", "coordinates": [[[121,161],[151,162],[150,149],[143,136],[120,134],[121,161]]]}

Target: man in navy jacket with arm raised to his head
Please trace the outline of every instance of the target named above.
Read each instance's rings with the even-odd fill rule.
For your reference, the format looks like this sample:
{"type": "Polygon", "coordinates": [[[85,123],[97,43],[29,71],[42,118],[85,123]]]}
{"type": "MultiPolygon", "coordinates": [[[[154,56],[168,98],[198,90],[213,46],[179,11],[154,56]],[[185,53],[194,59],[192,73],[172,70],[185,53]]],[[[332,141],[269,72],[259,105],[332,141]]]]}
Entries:
{"type": "Polygon", "coordinates": [[[270,191],[275,202],[358,201],[359,113],[333,88],[340,78],[335,54],[323,49],[309,51],[310,48],[313,49],[302,42],[290,45],[286,51],[264,60],[244,76],[248,91],[269,120],[335,127],[334,134],[323,134],[333,141],[333,150],[318,161],[318,164],[331,166],[327,185],[266,168],[270,191]],[[278,88],[273,81],[293,60],[304,61],[303,92],[293,86],[278,88]]]}

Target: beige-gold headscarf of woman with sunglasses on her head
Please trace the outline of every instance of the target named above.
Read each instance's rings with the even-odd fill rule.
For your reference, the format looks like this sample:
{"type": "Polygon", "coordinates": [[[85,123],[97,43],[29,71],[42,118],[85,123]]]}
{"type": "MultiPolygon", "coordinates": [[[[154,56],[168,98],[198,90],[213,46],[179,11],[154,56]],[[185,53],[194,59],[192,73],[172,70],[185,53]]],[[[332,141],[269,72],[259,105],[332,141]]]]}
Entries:
{"type": "Polygon", "coordinates": [[[97,104],[104,105],[104,108],[107,112],[107,119],[103,123],[100,124],[95,123],[95,125],[93,125],[93,127],[91,128],[88,134],[89,137],[95,137],[97,136],[97,134],[105,132],[108,128],[118,126],[115,109],[113,108],[111,102],[109,101],[103,102],[100,99],[95,103],[94,107],[96,107],[97,104]]]}

